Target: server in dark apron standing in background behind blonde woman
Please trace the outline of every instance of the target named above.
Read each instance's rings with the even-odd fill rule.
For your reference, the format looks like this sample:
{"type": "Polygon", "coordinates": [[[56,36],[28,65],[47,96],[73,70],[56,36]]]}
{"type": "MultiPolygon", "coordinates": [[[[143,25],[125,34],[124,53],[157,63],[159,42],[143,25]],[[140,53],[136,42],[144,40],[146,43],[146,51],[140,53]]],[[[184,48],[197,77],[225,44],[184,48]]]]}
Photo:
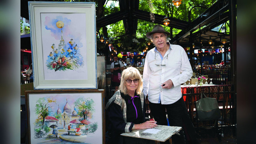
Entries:
{"type": "Polygon", "coordinates": [[[118,90],[118,86],[120,85],[120,77],[122,70],[124,70],[124,64],[122,61],[118,60],[117,55],[114,55],[113,57],[114,62],[110,65],[110,72],[111,75],[111,85],[115,86],[115,90],[118,90]]]}

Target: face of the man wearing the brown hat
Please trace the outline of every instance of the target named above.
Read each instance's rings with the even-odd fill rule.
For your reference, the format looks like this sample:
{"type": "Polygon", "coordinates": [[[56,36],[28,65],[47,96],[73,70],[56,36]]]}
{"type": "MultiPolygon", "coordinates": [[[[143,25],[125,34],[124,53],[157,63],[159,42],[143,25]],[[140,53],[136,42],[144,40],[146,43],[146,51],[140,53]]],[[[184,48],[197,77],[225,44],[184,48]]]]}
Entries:
{"type": "Polygon", "coordinates": [[[154,33],[153,34],[153,44],[156,45],[157,48],[165,48],[166,47],[166,36],[164,33],[154,33]]]}

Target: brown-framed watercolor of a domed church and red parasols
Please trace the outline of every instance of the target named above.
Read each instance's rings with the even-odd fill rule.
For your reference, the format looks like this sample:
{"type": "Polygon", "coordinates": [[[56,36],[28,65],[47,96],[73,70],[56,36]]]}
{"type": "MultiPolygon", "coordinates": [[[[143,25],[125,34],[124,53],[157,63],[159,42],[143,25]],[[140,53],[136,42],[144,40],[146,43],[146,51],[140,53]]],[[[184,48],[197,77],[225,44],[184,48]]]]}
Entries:
{"type": "Polygon", "coordinates": [[[29,143],[105,143],[104,93],[26,91],[29,143]]]}

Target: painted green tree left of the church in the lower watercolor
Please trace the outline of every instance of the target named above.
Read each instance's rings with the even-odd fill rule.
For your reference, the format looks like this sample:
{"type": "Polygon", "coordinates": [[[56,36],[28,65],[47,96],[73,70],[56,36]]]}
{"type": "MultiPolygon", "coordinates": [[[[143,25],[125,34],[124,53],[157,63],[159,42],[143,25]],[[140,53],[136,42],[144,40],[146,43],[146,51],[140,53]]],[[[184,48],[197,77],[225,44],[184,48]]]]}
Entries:
{"type": "Polygon", "coordinates": [[[40,118],[40,117],[43,118],[42,125],[44,125],[45,117],[48,116],[52,112],[52,107],[49,105],[49,103],[52,103],[52,102],[56,103],[56,100],[52,100],[50,98],[48,98],[47,100],[46,100],[46,98],[39,98],[36,101],[35,112],[38,115],[38,118],[40,118]]]}

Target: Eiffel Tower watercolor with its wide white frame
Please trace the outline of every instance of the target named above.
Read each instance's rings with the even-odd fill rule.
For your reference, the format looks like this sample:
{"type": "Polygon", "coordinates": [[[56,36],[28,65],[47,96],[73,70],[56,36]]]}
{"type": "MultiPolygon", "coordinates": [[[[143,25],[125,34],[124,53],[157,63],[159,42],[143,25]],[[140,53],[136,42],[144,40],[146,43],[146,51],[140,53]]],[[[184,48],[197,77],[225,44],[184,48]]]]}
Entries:
{"type": "Polygon", "coordinates": [[[28,2],[34,89],[97,89],[94,2],[28,2]]]}

